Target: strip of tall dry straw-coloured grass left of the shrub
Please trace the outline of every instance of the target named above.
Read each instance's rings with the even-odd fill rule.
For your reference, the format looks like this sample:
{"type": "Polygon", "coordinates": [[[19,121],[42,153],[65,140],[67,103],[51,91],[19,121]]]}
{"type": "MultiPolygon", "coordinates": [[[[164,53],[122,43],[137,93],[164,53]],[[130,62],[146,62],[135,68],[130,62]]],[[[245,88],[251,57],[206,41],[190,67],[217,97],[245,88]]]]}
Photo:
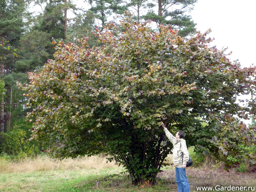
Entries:
{"type": "Polygon", "coordinates": [[[102,169],[117,167],[115,162],[107,163],[106,157],[91,156],[62,161],[48,156],[38,156],[35,159],[27,159],[21,162],[13,162],[0,159],[0,173],[36,172],[51,170],[77,170],[77,169],[102,169]]]}

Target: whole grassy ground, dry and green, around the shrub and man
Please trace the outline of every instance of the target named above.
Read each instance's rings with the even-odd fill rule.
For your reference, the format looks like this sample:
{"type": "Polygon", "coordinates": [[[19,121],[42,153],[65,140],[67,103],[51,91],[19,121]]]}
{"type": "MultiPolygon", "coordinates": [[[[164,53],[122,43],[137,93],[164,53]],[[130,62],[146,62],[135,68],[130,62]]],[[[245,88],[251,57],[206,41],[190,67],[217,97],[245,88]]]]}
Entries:
{"type": "MultiPolygon", "coordinates": [[[[168,159],[171,159],[169,157],[168,159]]],[[[122,167],[106,164],[104,157],[82,157],[57,161],[49,157],[15,163],[0,159],[0,191],[3,192],[174,192],[175,168],[165,167],[155,186],[132,186],[122,167]],[[118,175],[117,175],[118,174],[118,175]]],[[[226,172],[222,168],[187,168],[191,191],[200,186],[251,186],[256,174],[226,172]]],[[[201,190],[207,191],[207,190],[201,190]]],[[[209,190],[208,190],[209,191],[209,190]]],[[[215,190],[216,191],[216,190],[215,190]]],[[[221,191],[221,190],[219,190],[221,191]]]]}

